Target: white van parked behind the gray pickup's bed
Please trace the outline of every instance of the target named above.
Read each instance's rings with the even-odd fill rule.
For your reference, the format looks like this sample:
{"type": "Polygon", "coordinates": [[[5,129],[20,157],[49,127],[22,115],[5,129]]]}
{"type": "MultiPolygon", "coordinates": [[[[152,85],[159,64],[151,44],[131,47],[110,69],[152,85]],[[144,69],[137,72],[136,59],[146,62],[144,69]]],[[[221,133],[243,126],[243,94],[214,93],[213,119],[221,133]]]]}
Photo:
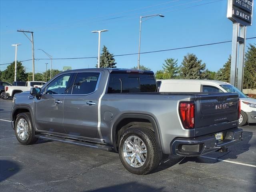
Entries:
{"type": "Polygon", "coordinates": [[[246,96],[229,83],[216,80],[168,79],[157,80],[160,92],[236,92],[241,101],[239,126],[256,123],[256,99],[246,96]]]}

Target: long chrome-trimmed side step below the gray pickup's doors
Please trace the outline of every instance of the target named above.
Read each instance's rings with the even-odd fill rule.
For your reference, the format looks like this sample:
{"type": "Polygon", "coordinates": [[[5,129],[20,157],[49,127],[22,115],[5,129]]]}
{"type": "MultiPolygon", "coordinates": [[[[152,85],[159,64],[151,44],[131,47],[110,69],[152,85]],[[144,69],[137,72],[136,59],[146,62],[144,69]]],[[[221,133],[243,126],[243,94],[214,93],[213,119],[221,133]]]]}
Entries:
{"type": "Polygon", "coordinates": [[[35,136],[37,138],[44,139],[44,140],[59,141],[59,142],[68,143],[68,144],[75,144],[75,145],[84,146],[84,147],[96,148],[104,151],[112,150],[112,147],[110,146],[86,142],[86,141],[72,140],[68,138],[56,137],[52,135],[42,135],[42,134],[36,134],[35,136]]]}

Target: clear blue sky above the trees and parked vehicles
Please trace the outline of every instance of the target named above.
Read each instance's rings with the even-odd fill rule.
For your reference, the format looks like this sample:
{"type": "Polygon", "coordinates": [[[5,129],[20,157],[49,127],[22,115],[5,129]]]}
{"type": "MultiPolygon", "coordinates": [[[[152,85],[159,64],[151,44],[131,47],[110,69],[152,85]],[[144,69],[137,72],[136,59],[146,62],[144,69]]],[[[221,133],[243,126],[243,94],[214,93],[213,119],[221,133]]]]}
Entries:
{"type": "MultiPolygon", "coordinates": [[[[246,37],[256,37],[255,14],[246,37]]],[[[31,42],[17,30],[34,32],[35,72],[44,72],[50,60],[43,49],[56,58],[98,56],[98,34],[92,30],[107,29],[101,34],[101,50],[105,45],[114,55],[138,53],[140,16],[162,14],[142,22],[140,52],[150,52],[232,40],[232,22],[226,18],[227,0],[0,0],[0,64],[32,58],[31,42]],[[39,60],[40,59],[40,60],[39,60]]],[[[27,34],[30,37],[30,34],[27,34]]],[[[255,44],[256,39],[247,40],[255,44]]],[[[231,54],[231,42],[212,46],[140,54],[140,64],[156,72],[162,70],[166,58],[181,64],[188,53],[196,54],[206,68],[217,71],[231,54]]],[[[137,66],[138,55],[115,56],[118,68],[137,66]]],[[[32,61],[22,62],[26,72],[32,61]]],[[[48,68],[50,65],[48,64],[48,68]]],[[[94,68],[96,58],[53,60],[52,68],[62,70],[94,68]]],[[[5,70],[8,65],[1,65],[5,70]]]]}

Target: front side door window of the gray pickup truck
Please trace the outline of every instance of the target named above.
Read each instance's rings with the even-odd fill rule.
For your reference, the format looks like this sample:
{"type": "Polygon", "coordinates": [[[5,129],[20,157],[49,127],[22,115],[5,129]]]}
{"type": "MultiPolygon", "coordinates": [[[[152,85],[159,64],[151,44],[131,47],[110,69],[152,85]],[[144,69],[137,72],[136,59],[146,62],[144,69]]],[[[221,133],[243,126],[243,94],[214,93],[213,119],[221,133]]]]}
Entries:
{"type": "Polygon", "coordinates": [[[73,74],[65,74],[54,79],[46,88],[45,94],[70,94],[73,74]]]}

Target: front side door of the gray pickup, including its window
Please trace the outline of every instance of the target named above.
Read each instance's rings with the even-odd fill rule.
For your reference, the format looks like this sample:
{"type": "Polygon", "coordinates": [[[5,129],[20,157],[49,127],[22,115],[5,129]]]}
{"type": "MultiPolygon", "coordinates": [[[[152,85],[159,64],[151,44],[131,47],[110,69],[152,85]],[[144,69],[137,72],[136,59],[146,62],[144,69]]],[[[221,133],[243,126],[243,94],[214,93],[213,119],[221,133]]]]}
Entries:
{"type": "Polygon", "coordinates": [[[63,104],[65,95],[71,93],[74,75],[70,73],[56,77],[42,90],[42,97],[34,99],[34,119],[38,130],[65,133],[63,104]]]}

